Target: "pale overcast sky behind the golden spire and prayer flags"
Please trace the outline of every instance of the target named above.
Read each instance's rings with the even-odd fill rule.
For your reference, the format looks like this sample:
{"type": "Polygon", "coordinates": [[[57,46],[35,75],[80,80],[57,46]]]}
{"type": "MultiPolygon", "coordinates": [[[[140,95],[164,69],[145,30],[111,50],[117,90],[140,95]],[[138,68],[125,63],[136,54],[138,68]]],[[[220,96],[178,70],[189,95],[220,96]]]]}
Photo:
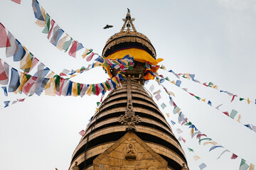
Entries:
{"type": "MultiPolygon", "coordinates": [[[[151,40],[156,57],[164,58],[161,64],[166,68],[177,73],[196,74],[195,79],[201,82],[212,81],[219,89],[255,101],[255,1],[41,0],[39,3],[60,28],[99,54],[107,39],[121,29],[128,7],[132,17],[136,18],[135,28],[151,40]],[[114,28],[103,30],[106,24],[114,28]]],[[[11,0],[1,0],[0,22],[53,72],[87,66],[88,63],[80,57],[82,50],[77,58],[61,52],[48,42],[47,35],[41,33],[43,28],[38,27],[35,21],[31,1],[21,0],[21,5],[18,5],[11,0]]],[[[6,59],[5,49],[0,49],[0,57],[14,67],[18,66],[11,59],[6,59]]],[[[175,79],[172,74],[163,73],[171,80],[175,79]]],[[[90,84],[105,81],[106,78],[102,69],[96,68],[81,74],[74,81],[90,84]]],[[[196,96],[212,101],[213,106],[223,103],[221,111],[230,113],[233,108],[242,115],[242,123],[256,125],[255,104],[248,105],[245,101],[238,101],[238,98],[230,104],[231,98],[227,94],[186,79],[181,81],[182,88],[187,87],[196,96]]],[[[231,160],[231,154],[226,153],[216,160],[224,149],[208,152],[210,146],[203,147],[198,145],[197,140],[190,140],[189,130],[177,125],[173,131],[176,133],[175,128],[183,128],[181,135],[187,142],[181,145],[190,169],[198,169],[202,162],[208,166],[206,169],[239,169],[241,157],[256,164],[255,132],[191,98],[176,86],[168,82],[164,86],[174,91],[176,103],[201,132],[239,156],[231,160]],[[187,152],[186,147],[191,147],[195,153],[187,152]],[[194,155],[202,159],[194,162],[194,155]]],[[[22,97],[5,97],[2,92],[1,101],[22,97]]],[[[161,102],[167,104],[164,93],[162,96],[161,102]]],[[[0,169],[68,169],[80,140],[78,132],[85,129],[95,113],[97,101],[100,97],[42,94],[0,110],[0,169]]],[[[3,103],[0,105],[3,106],[3,103]]],[[[170,113],[171,120],[177,122],[171,107],[165,108],[163,113],[170,113]]]]}

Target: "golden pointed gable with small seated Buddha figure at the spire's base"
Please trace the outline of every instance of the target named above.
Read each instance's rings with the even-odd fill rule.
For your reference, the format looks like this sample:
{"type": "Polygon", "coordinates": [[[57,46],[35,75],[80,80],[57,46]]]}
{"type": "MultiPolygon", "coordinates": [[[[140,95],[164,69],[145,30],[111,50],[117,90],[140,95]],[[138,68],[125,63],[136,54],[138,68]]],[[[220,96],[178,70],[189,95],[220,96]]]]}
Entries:
{"type": "Polygon", "coordinates": [[[94,170],[166,170],[167,162],[134,132],[120,140],[93,161],[94,170]]]}

